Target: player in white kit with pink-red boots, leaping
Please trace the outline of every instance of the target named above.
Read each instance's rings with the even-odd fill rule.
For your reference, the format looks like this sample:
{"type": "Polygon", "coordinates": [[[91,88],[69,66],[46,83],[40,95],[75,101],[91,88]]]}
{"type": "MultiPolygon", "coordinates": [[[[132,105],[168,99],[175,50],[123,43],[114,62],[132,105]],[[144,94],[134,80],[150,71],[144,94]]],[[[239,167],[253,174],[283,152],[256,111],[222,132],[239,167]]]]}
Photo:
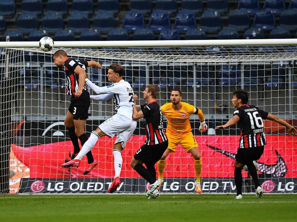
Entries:
{"type": "MultiPolygon", "coordinates": [[[[86,85],[97,94],[101,94],[90,96],[90,98],[101,101],[114,98],[116,114],[105,120],[105,122],[100,124],[96,130],[91,132],[89,139],[83,145],[75,159],[61,165],[62,167],[79,167],[80,160],[95,146],[100,137],[108,136],[111,138],[116,135],[116,142],[113,146],[115,176],[108,189],[108,193],[116,191],[121,184],[119,178],[123,163],[121,151],[124,149],[127,141],[133,134],[137,123],[132,120],[134,106],[132,95],[134,92],[129,82],[124,81],[122,78],[123,73],[124,68],[120,64],[113,63],[109,66],[107,74],[108,81],[113,82],[113,84],[99,87],[92,83],[89,79],[86,79],[86,85]]],[[[90,171],[91,170],[92,169],[90,169],[90,171]]]]}

